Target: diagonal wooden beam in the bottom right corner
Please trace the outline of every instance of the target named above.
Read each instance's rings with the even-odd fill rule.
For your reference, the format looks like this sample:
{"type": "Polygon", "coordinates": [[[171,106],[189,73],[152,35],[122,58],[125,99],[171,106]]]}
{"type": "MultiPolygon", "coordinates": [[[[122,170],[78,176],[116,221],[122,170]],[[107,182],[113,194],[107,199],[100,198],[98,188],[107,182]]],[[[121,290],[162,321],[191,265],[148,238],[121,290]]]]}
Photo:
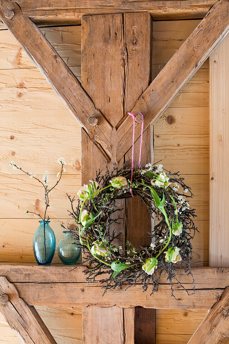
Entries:
{"type": "Polygon", "coordinates": [[[214,304],[204,320],[192,335],[188,344],[218,344],[224,343],[229,337],[229,287],[214,304]]]}

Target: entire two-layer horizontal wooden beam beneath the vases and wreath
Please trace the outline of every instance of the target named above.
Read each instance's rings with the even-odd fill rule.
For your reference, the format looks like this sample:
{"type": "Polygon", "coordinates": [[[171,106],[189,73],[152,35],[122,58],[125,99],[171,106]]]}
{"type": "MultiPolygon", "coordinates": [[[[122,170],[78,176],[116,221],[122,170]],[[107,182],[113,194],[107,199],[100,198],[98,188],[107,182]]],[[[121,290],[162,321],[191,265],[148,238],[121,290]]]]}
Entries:
{"type": "MultiPolygon", "coordinates": [[[[103,307],[142,306],[146,308],[171,309],[210,309],[219,300],[224,288],[229,286],[229,268],[193,268],[195,293],[193,294],[192,277],[184,271],[177,271],[177,279],[189,291],[187,293],[174,281],[174,294],[171,297],[171,286],[162,275],[159,290],[151,295],[142,291],[141,284],[125,290],[108,290],[103,296],[100,283],[87,283],[85,267],[63,265],[38,266],[33,264],[0,265],[0,276],[5,276],[17,287],[20,297],[31,305],[89,305],[103,307]]],[[[101,282],[100,277],[100,282],[101,282]]]]}

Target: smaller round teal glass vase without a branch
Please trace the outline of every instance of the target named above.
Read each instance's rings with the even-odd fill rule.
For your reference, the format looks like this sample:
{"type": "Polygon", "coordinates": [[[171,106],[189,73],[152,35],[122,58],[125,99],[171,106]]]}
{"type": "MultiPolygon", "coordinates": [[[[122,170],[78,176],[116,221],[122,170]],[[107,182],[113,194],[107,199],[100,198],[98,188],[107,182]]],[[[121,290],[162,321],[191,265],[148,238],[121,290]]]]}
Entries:
{"type": "Polygon", "coordinates": [[[73,236],[74,230],[65,230],[63,233],[65,235],[58,244],[59,259],[65,265],[76,264],[81,253],[81,248],[77,245],[79,241],[73,236]]]}

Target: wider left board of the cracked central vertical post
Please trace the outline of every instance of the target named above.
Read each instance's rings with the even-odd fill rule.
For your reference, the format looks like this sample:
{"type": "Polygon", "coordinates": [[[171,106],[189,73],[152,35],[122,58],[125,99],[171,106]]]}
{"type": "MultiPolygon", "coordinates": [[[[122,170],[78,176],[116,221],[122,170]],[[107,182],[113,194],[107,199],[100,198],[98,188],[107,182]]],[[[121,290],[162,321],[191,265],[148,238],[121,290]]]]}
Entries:
{"type": "MultiPolygon", "coordinates": [[[[124,41],[121,14],[96,15],[82,18],[81,70],[82,86],[113,126],[122,118],[124,98],[124,41]]],[[[117,146],[113,131],[113,151],[117,146]]],[[[94,179],[96,171],[105,173],[107,162],[95,144],[82,129],[82,184],[94,179]]],[[[116,162],[115,159],[113,162],[116,162]]],[[[121,164],[123,163],[123,160],[121,164]]],[[[111,167],[111,166],[110,166],[111,167]]],[[[125,207],[125,202],[120,208],[125,207]]],[[[121,240],[125,241],[125,216],[117,226],[121,240]],[[118,228],[119,227],[119,228],[118,228]]],[[[83,309],[84,344],[123,344],[123,309],[90,306],[83,309]],[[110,321],[106,321],[110,319],[110,321]]]]}

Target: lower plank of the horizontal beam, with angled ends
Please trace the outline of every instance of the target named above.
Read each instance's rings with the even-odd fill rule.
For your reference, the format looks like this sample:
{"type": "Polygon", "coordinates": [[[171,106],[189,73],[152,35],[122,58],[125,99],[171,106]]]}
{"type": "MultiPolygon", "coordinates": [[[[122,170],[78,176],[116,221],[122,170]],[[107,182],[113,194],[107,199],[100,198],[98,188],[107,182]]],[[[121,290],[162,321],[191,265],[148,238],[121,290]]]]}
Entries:
{"type": "MultiPolygon", "coordinates": [[[[104,295],[101,284],[97,283],[14,283],[20,293],[20,297],[27,304],[87,307],[96,305],[100,307],[110,307],[117,305],[123,308],[142,306],[145,308],[166,308],[166,309],[210,309],[219,300],[223,292],[222,288],[213,289],[193,289],[186,291],[174,285],[174,295],[171,296],[170,285],[160,285],[154,295],[149,287],[143,292],[142,287],[136,284],[133,287],[122,290],[109,290],[104,295]]],[[[188,285],[184,284],[186,288],[188,285]]],[[[189,284],[189,287],[191,285],[189,284]]],[[[221,287],[221,286],[220,286],[221,287]]],[[[99,316],[97,314],[97,316],[99,316]]]]}

